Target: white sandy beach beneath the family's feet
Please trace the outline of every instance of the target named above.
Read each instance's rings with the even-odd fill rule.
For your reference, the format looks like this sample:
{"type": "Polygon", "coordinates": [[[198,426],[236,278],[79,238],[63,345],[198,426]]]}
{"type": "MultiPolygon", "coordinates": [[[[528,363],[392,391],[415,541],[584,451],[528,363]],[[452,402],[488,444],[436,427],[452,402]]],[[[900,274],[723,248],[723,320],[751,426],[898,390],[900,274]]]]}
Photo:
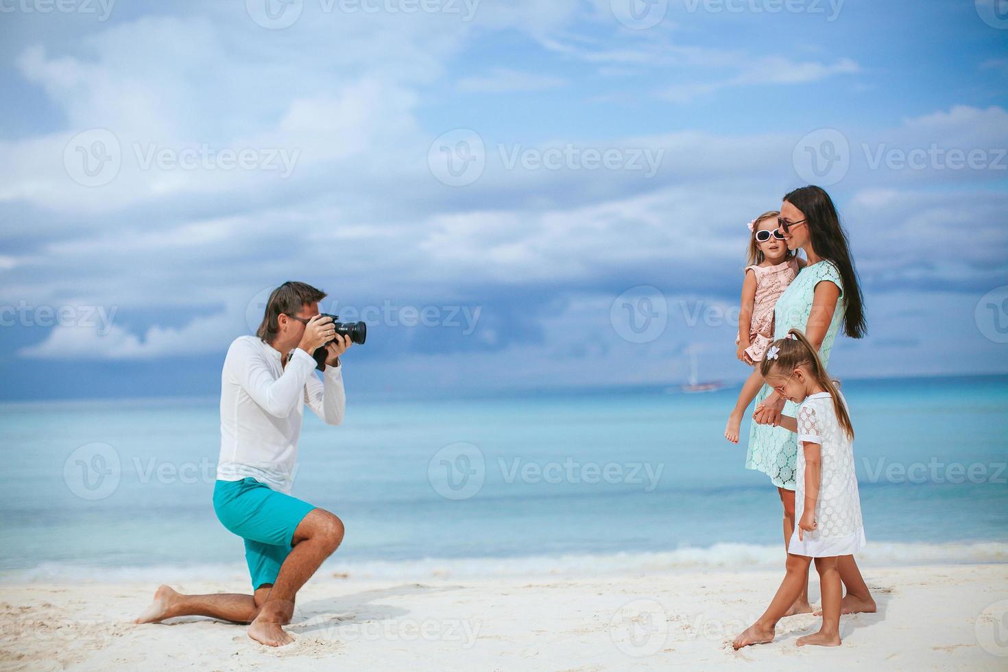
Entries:
{"type": "MultiPolygon", "coordinates": [[[[1008,667],[1008,564],[866,567],[879,613],[845,616],[844,645],[798,648],[817,619],[773,644],[731,638],[766,606],[778,571],[666,572],[422,582],[323,572],[298,595],[296,642],[261,647],[209,619],[135,626],[151,583],[0,586],[7,670],[962,669],[1008,667]],[[979,624],[978,624],[979,621],[979,624]],[[330,668],[332,666],[332,668],[330,668]]],[[[173,585],[243,591],[242,581],[173,585]]],[[[812,581],[813,597],[817,583],[812,581]]]]}

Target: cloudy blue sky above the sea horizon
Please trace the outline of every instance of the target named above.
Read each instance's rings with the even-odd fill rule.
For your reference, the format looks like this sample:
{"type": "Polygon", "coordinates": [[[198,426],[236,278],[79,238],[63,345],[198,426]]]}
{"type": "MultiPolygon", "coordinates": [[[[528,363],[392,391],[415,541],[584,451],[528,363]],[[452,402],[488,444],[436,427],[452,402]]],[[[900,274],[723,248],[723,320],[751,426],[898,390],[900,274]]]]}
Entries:
{"type": "Polygon", "coordinates": [[[0,5],[3,398],[214,394],[287,279],[361,392],[740,380],[745,223],[808,181],[835,375],[1008,372],[1004,0],[266,1],[0,5]]]}

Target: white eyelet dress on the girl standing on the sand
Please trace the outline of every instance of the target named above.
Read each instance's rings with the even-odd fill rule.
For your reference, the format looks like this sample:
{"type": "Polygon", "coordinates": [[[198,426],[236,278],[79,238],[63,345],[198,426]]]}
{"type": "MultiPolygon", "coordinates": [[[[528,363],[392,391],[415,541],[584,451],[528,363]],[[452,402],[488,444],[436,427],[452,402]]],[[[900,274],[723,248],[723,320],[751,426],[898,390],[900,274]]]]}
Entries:
{"type": "MultiPolygon", "coordinates": [[[[847,407],[843,395],[841,402],[847,407]]],[[[794,493],[795,527],[787,552],[813,558],[853,555],[868,543],[861,520],[854,442],[840,426],[829,392],[809,395],[798,407],[797,420],[798,443],[802,445],[798,448],[794,474],[797,485],[794,493]],[[805,505],[804,443],[822,446],[822,481],[815,502],[815,521],[818,525],[811,532],[803,532],[803,539],[799,540],[797,522],[801,520],[805,505]]]]}

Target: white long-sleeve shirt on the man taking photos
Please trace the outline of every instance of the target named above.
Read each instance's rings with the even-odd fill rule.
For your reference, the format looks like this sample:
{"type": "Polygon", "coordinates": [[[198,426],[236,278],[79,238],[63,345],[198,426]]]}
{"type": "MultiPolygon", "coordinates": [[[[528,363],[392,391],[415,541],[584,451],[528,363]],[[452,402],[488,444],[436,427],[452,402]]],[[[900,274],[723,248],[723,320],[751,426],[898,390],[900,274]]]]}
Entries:
{"type": "Polygon", "coordinates": [[[235,339],[221,372],[219,480],[252,477],[290,492],[304,404],[335,425],[347,403],[343,367],[326,367],[325,382],[314,370],[316,361],[299,348],[283,367],[269,344],[252,335],[235,339]]]}

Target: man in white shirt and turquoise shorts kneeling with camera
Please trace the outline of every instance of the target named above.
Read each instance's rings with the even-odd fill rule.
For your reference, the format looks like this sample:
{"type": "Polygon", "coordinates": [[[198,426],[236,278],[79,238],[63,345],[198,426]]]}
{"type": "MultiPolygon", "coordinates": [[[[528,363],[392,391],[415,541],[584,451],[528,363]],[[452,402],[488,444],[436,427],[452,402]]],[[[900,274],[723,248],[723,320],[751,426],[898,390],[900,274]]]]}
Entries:
{"type": "Polygon", "coordinates": [[[214,510],[245,539],[253,594],[183,595],[162,585],[136,623],[208,616],[251,624],[249,637],[261,644],[293,642],[281,626],[293,617],[294,595],[343,541],[339,518],[288,494],[304,404],[333,425],[346,406],[340,356],[351,340],[319,316],[325,297],[302,282],[280,285],[257,334],[236,339],[224,360],[214,510]],[[325,344],[320,381],[312,353],[325,344]]]}

